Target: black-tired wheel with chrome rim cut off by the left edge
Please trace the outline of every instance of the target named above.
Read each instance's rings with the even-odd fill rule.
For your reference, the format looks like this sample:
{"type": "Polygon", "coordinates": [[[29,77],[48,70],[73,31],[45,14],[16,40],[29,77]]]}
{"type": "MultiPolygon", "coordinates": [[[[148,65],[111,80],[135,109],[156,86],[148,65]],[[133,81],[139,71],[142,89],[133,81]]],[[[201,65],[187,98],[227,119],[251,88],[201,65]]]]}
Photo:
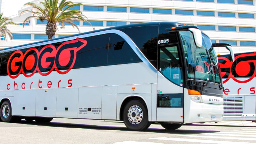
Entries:
{"type": "Polygon", "coordinates": [[[18,117],[12,116],[12,106],[9,100],[3,101],[0,108],[0,118],[3,122],[15,122],[18,117]]]}

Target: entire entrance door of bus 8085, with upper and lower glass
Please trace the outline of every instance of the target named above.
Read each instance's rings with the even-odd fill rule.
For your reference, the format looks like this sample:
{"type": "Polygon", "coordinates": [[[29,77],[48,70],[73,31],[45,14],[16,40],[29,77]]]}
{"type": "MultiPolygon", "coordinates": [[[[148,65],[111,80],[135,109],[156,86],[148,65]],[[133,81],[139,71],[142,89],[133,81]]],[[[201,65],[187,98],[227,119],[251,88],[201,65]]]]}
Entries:
{"type": "Polygon", "coordinates": [[[183,123],[183,75],[177,45],[159,46],[157,121],[183,123]]]}

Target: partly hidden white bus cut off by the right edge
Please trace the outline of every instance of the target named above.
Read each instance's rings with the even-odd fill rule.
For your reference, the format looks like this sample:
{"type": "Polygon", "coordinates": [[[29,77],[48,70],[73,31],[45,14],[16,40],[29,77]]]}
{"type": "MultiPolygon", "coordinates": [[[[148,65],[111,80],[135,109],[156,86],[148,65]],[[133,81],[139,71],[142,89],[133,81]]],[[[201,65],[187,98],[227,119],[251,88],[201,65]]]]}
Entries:
{"type": "Polygon", "coordinates": [[[220,55],[224,85],[224,120],[256,122],[256,52],[220,55]]]}

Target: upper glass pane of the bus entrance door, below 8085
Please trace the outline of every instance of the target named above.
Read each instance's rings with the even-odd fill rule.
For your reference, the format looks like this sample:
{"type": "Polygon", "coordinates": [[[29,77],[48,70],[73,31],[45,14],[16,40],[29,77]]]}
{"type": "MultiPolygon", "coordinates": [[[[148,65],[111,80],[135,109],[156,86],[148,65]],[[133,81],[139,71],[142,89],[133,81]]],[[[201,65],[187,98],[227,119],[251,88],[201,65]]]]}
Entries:
{"type": "Polygon", "coordinates": [[[161,74],[171,82],[182,86],[183,76],[177,46],[161,47],[159,61],[161,74]]]}

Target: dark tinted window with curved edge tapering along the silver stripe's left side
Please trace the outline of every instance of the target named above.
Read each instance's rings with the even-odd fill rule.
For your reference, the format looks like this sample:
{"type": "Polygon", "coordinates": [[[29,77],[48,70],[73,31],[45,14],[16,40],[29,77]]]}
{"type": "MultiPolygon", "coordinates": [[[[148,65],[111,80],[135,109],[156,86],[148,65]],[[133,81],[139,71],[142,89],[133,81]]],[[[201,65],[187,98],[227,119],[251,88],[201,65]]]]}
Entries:
{"type": "Polygon", "coordinates": [[[110,34],[108,49],[108,65],[142,62],[130,45],[117,34],[110,34]]]}

